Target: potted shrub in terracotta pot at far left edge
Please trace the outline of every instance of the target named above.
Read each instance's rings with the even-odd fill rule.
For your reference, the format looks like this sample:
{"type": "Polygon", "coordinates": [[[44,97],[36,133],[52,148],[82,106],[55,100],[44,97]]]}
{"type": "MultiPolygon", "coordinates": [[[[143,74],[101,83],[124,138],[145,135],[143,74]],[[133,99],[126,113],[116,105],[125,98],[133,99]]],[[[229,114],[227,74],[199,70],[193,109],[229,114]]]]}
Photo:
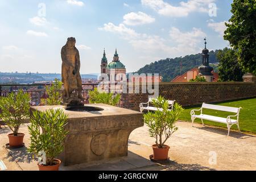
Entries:
{"type": "Polygon", "coordinates": [[[19,127],[30,117],[30,96],[20,89],[0,97],[0,110],[1,120],[13,131],[8,135],[9,146],[22,147],[24,134],[19,133],[19,127]]]}

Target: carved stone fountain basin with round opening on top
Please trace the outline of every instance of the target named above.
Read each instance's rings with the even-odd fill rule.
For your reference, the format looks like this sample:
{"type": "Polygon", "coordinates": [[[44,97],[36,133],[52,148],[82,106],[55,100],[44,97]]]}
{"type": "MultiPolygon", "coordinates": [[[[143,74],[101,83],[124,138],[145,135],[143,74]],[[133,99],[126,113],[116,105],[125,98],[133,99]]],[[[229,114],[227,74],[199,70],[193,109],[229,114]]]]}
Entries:
{"type": "Polygon", "coordinates": [[[45,111],[62,108],[68,115],[69,131],[64,152],[64,165],[127,156],[131,131],[143,126],[142,113],[105,104],[85,104],[79,107],[34,106],[45,111]]]}

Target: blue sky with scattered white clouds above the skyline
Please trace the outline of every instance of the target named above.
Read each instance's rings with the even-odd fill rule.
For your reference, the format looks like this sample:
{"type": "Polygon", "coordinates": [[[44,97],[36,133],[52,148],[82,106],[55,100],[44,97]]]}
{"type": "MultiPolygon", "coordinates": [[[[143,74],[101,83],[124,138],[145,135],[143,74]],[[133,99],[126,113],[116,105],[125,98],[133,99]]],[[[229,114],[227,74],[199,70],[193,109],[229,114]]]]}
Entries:
{"type": "Polygon", "coordinates": [[[0,72],[60,73],[60,49],[69,36],[80,51],[80,73],[100,72],[104,48],[109,62],[117,48],[127,72],[166,57],[199,53],[205,36],[209,49],[221,49],[229,46],[223,32],[231,3],[1,0],[0,72]]]}

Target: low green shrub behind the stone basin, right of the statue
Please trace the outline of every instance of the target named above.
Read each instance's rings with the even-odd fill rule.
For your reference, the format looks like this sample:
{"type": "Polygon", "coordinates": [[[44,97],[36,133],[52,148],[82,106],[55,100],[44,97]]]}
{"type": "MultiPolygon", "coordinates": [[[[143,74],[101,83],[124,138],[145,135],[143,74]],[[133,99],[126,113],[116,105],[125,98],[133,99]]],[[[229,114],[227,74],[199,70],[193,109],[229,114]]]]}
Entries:
{"type": "Polygon", "coordinates": [[[115,106],[119,103],[121,94],[98,92],[97,88],[89,92],[89,102],[91,104],[108,104],[115,106]]]}

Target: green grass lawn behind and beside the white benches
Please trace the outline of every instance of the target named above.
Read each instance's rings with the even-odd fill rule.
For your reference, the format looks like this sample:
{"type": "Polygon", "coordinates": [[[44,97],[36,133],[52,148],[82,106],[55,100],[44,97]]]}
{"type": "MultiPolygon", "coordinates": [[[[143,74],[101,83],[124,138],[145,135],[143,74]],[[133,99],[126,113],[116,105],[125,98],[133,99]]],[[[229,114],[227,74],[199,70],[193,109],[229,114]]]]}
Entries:
{"type": "MultiPolygon", "coordinates": [[[[246,100],[239,100],[239,101],[228,101],[228,102],[220,102],[217,103],[217,105],[222,106],[230,106],[230,107],[242,107],[240,110],[240,116],[239,116],[239,125],[241,131],[249,131],[251,133],[256,133],[256,98],[246,99],[246,100]]],[[[180,120],[182,121],[189,121],[191,122],[191,115],[190,111],[192,109],[200,109],[199,107],[187,107],[183,111],[183,114],[180,116],[180,120]]],[[[200,111],[199,111],[200,112],[200,111]]],[[[197,111],[198,113],[198,111],[197,111]]],[[[196,113],[196,114],[197,114],[196,113]]],[[[204,114],[219,116],[219,117],[227,117],[228,115],[234,115],[234,113],[228,113],[224,111],[217,111],[217,110],[210,110],[210,109],[204,109],[204,114]]],[[[201,119],[195,119],[195,122],[202,123],[201,119]]],[[[206,125],[213,125],[218,127],[224,127],[227,128],[225,124],[217,123],[217,122],[211,122],[204,120],[204,123],[206,125]]],[[[237,129],[237,125],[233,125],[232,129],[237,129]]]]}

